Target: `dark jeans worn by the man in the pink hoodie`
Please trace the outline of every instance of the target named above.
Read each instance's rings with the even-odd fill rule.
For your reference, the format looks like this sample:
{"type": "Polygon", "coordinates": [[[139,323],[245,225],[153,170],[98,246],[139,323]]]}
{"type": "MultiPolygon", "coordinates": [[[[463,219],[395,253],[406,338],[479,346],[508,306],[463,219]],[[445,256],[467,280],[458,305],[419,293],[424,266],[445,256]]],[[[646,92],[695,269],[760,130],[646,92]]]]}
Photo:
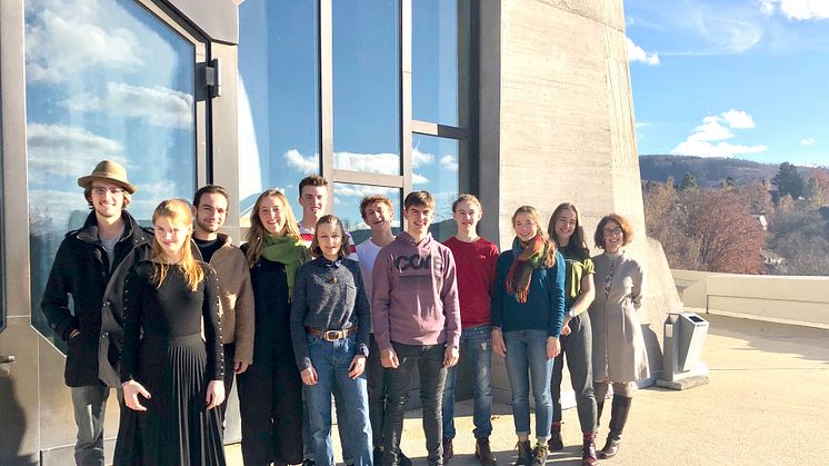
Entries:
{"type": "Polygon", "coordinates": [[[383,459],[387,466],[397,466],[400,435],[403,432],[406,403],[409,400],[411,376],[417,365],[420,374],[420,403],[423,407],[423,434],[426,434],[427,459],[430,465],[441,465],[443,447],[443,419],[441,400],[447,369],[443,367],[443,344],[402,345],[392,341],[400,366],[387,370],[389,385],[383,420],[383,459]]]}

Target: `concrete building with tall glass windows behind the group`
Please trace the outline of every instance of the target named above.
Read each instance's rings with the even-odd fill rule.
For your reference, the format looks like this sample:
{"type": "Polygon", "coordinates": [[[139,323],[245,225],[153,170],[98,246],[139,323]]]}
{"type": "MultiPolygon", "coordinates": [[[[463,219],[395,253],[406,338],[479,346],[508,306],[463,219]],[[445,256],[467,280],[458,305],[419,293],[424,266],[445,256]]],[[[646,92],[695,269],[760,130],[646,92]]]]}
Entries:
{"type": "MultiPolygon", "coordinates": [[[[256,195],[294,198],[308,172],[332,181],[329,210],[358,240],[369,192],[436,192],[441,239],[451,199],[473,192],[502,248],[521,205],[549,217],[573,201],[588,236],[622,214],[649,270],[656,373],[681,305],[645,235],[625,47],[621,0],[3,0],[0,464],[71,459],[63,347],[39,303],[87,212],[74,180],[102,158],[127,165],[143,221],[162,198],[227,187],[237,239],[256,195]]],[[[502,373],[496,384],[506,396],[502,373]]]]}

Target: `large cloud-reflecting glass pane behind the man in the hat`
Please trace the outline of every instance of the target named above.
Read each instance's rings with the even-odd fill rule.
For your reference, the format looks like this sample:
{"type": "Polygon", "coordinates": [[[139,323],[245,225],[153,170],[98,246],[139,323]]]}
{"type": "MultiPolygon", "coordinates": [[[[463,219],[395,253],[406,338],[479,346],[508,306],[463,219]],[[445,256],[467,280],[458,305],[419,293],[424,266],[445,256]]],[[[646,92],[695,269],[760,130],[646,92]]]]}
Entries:
{"type": "Polygon", "coordinates": [[[132,0],[26,2],[32,324],[54,252],[90,208],[78,187],[98,161],[127,167],[129,211],[196,187],[193,42],[132,0]]]}

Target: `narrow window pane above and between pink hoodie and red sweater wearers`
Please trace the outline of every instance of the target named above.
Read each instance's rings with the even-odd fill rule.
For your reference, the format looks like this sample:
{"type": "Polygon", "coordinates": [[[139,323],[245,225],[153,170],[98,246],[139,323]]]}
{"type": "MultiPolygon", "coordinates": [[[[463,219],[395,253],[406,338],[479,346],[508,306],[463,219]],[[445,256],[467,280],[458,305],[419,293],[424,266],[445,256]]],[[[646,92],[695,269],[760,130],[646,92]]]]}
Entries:
{"type": "Polygon", "coordinates": [[[412,136],[412,184],[435,197],[432,236],[445,240],[455,235],[452,202],[458,198],[458,166],[461,141],[435,136],[412,136]]]}

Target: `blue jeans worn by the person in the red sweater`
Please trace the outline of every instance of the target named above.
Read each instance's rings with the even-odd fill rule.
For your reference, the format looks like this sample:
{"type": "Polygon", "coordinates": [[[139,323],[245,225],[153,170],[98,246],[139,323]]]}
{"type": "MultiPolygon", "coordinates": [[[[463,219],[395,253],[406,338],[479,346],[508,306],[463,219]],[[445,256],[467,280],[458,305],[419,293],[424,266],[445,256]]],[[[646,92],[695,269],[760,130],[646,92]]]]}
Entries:
{"type": "MultiPolygon", "coordinates": [[[[488,325],[465,328],[460,335],[460,350],[469,358],[475,371],[475,410],[472,422],[475,438],[489,437],[492,434],[492,335],[488,325]]],[[[455,381],[458,377],[458,365],[447,370],[443,388],[443,437],[455,438],[455,381]]]]}

